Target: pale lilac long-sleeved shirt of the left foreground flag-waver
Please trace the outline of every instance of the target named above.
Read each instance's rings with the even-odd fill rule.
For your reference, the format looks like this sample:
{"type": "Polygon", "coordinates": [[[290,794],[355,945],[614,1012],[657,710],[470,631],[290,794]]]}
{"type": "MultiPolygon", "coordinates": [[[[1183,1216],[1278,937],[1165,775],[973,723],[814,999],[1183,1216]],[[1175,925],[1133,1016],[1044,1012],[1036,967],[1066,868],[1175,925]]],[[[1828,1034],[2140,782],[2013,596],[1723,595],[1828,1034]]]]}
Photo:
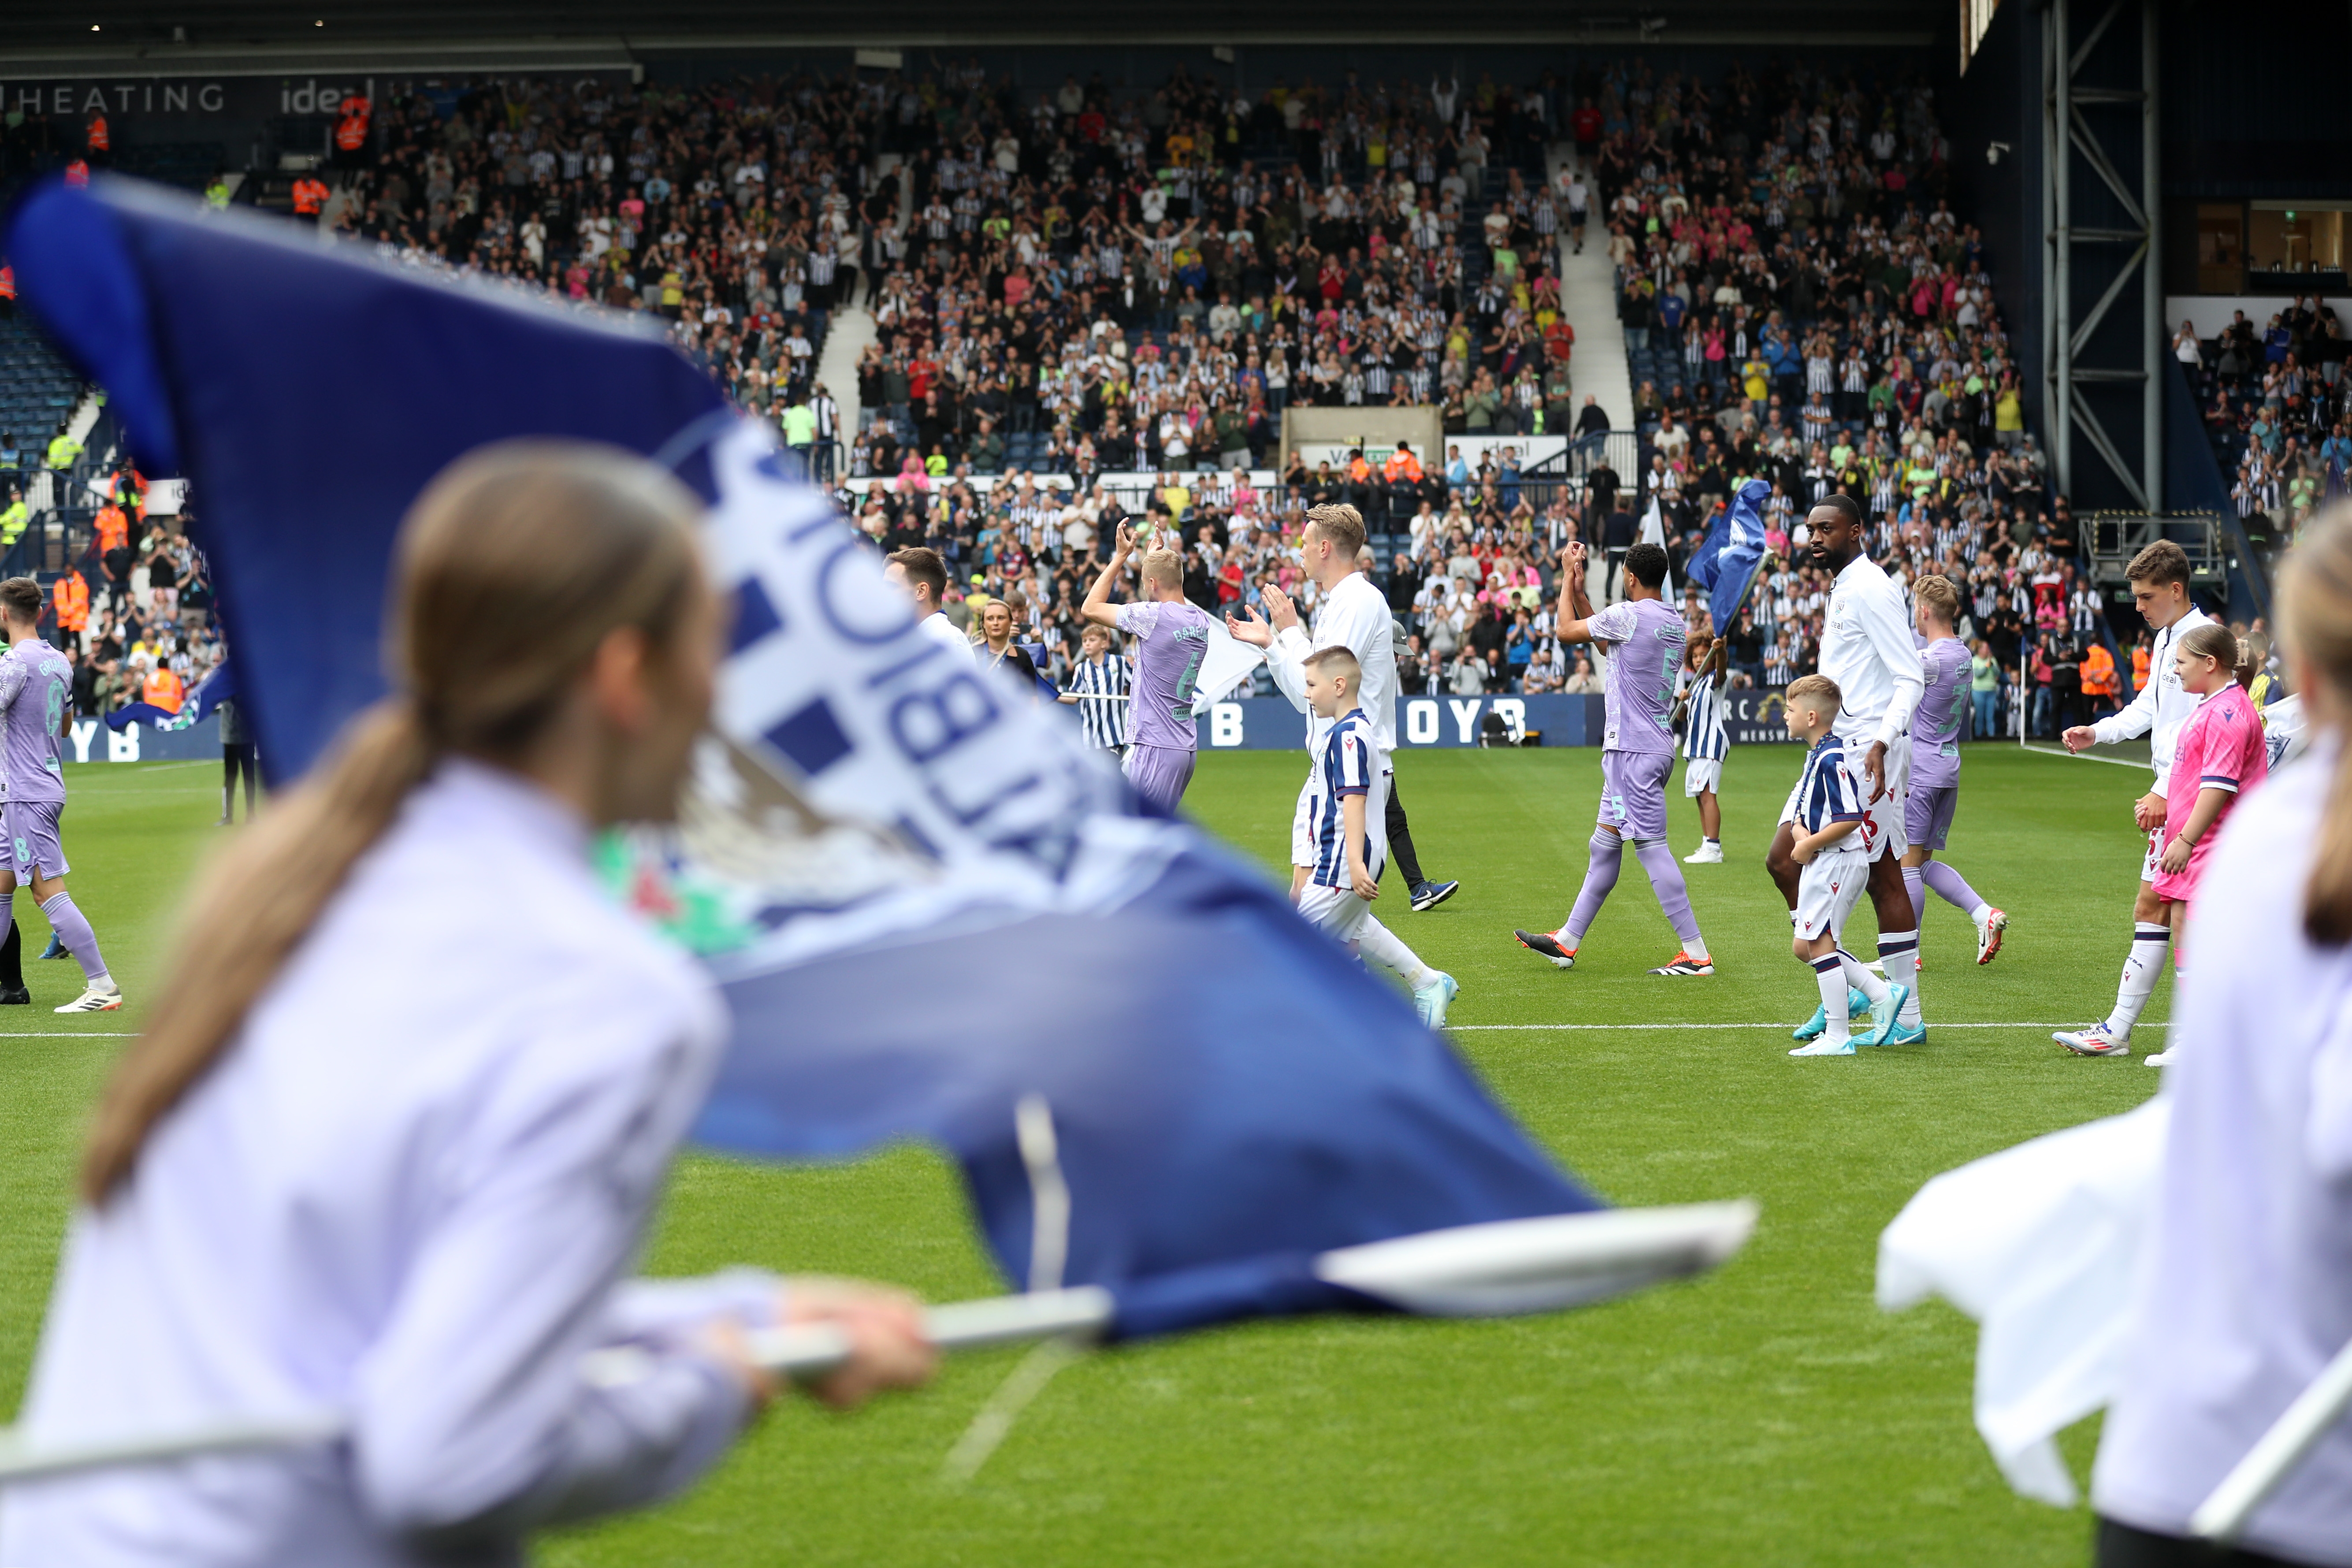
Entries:
{"type": "Polygon", "coordinates": [[[0,1563],[520,1563],[524,1530],[720,1458],[746,1396],[680,1333],[764,1324],[776,1284],[623,1274],[724,1016],[586,839],[534,785],[445,764],[73,1220],[38,1441],[313,1410],[350,1436],[9,1488],[0,1563]],[[583,1352],[623,1342],[640,1375],[590,1382],[583,1352]]]}

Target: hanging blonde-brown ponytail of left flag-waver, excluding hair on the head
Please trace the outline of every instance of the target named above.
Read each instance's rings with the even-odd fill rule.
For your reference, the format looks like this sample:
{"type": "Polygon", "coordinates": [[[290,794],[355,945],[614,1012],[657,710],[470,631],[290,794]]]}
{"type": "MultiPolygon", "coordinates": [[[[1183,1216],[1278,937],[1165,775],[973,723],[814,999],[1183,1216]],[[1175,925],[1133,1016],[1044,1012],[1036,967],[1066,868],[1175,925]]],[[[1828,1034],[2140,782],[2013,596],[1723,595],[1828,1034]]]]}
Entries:
{"type": "Polygon", "coordinates": [[[212,867],[188,900],[153,1023],[99,1103],[82,1152],[87,1201],[103,1204],[129,1175],[148,1131],[221,1056],[430,766],[416,705],[376,703],[350,722],[320,773],[280,797],[212,867]]]}

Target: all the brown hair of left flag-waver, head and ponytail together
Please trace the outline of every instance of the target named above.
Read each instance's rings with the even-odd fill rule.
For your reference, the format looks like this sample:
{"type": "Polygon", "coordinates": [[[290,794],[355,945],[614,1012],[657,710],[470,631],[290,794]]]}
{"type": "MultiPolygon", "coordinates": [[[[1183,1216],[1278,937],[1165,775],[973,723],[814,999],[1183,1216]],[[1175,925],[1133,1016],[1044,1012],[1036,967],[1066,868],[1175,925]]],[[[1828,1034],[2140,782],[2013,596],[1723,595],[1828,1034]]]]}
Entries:
{"type": "Polygon", "coordinates": [[[656,656],[675,646],[701,592],[696,515],[663,470],[583,442],[501,442],[426,487],[393,562],[395,696],[353,717],[198,884],[151,1025],[99,1103],[89,1204],[129,1178],[445,755],[520,764],[614,630],[642,630],[656,656]]]}

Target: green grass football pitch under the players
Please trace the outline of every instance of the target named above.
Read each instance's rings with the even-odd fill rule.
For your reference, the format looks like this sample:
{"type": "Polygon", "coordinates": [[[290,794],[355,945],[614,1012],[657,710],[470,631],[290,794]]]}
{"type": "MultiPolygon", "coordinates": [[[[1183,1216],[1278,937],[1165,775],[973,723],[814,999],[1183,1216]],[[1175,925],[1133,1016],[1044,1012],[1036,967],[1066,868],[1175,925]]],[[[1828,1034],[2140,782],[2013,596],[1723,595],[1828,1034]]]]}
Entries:
{"type": "MultiPolygon", "coordinates": [[[[969,1356],[934,1392],[851,1418],[788,1403],[706,1486],[555,1535],[539,1561],[2086,1561],[2089,1516],[2013,1497],[1976,1439],[1973,1324],[1943,1305],[1879,1314],[1870,1286],[1879,1229],[1929,1175],[2154,1091],[2138,1060],[2077,1060],[2049,1041],[2051,1025],[2112,1001],[2140,853],[2129,802],[2147,773],[1971,748],[1947,858],[2011,912],[2009,950],[1976,969],[1966,919],[1931,900],[1929,1041],[1790,1060],[1788,1025],[1816,992],[1762,851],[1795,769],[1795,748],[1729,759],[1731,860],[1689,867],[1719,964],[1710,980],[1642,973],[1675,940],[1630,860],[1573,973],[1512,945],[1512,926],[1559,924],[1583,877],[1595,750],[1404,757],[1423,863],[1463,891],[1411,914],[1390,877],[1381,900],[1399,936],[1461,978],[1454,1039],[1468,1058],[1602,1194],[1762,1199],[1755,1244],[1719,1274],[1562,1316],[1251,1324],[1091,1356],[957,1488],[938,1479],[941,1458],[1014,1363],[969,1356]]],[[[1272,870],[1301,776],[1301,755],[1209,755],[1190,809],[1272,870]]],[[[174,891],[216,837],[216,780],[212,764],[68,776],[75,898],[132,1009],[54,1018],[78,971],[28,961],[38,1006],[0,1013],[9,1403],[80,1124],[120,1044],[106,1034],[136,1027],[174,891]]],[[[1689,853],[1679,769],[1670,799],[1689,853]]],[[[28,898],[16,907],[38,950],[47,929],[28,898]]],[[[1870,938],[1867,905],[1853,936],[1870,938]]],[[[985,1004],[971,997],[974,1016],[985,1004]]],[[[934,1300],[1002,1288],[953,1171],[922,1150],[826,1168],[689,1157],[649,1267],[727,1262],[868,1274],[934,1300]]],[[[2077,1472],[2089,1450],[2091,1425],[2067,1436],[2077,1472]]]]}

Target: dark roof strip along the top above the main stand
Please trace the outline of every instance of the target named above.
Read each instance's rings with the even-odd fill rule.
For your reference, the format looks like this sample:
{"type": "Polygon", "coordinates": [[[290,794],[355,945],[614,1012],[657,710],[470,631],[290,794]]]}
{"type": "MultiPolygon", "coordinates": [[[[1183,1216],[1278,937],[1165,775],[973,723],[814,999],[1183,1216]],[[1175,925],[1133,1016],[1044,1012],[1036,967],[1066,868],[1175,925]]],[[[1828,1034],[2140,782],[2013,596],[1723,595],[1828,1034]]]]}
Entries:
{"type": "Polygon", "coordinates": [[[21,7],[0,80],[158,71],[522,68],[607,63],[713,47],[962,45],[1926,45],[1952,26],[1947,0],[1562,0],[1444,16],[1404,0],[1303,0],[1279,9],[1209,0],[1169,14],[1101,0],[870,0],[854,9],[762,0],[489,2],[407,0],[85,0],[21,7]],[[393,54],[397,59],[386,59],[393,54]]]}

